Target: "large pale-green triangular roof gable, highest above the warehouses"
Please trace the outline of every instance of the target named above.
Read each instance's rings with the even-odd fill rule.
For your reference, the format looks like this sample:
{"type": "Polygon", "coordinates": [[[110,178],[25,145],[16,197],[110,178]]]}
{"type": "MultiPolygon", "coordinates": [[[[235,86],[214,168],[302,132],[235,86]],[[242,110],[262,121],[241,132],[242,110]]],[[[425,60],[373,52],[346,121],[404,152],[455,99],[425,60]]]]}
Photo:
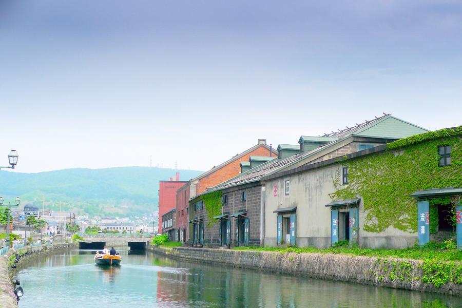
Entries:
{"type": "Polygon", "coordinates": [[[358,129],[353,135],[358,137],[401,139],[427,131],[425,128],[389,115],[388,117],[383,117],[373,125],[358,129]]]}

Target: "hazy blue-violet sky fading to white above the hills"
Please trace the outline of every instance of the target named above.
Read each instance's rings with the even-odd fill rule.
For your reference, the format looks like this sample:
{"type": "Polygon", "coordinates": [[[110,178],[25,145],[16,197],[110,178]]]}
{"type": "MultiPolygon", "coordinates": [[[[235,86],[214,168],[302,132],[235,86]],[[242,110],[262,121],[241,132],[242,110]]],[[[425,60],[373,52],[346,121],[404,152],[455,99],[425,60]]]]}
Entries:
{"type": "Polygon", "coordinates": [[[382,112],[462,117],[459,1],[0,0],[0,165],[208,170],[382,112]]]}

